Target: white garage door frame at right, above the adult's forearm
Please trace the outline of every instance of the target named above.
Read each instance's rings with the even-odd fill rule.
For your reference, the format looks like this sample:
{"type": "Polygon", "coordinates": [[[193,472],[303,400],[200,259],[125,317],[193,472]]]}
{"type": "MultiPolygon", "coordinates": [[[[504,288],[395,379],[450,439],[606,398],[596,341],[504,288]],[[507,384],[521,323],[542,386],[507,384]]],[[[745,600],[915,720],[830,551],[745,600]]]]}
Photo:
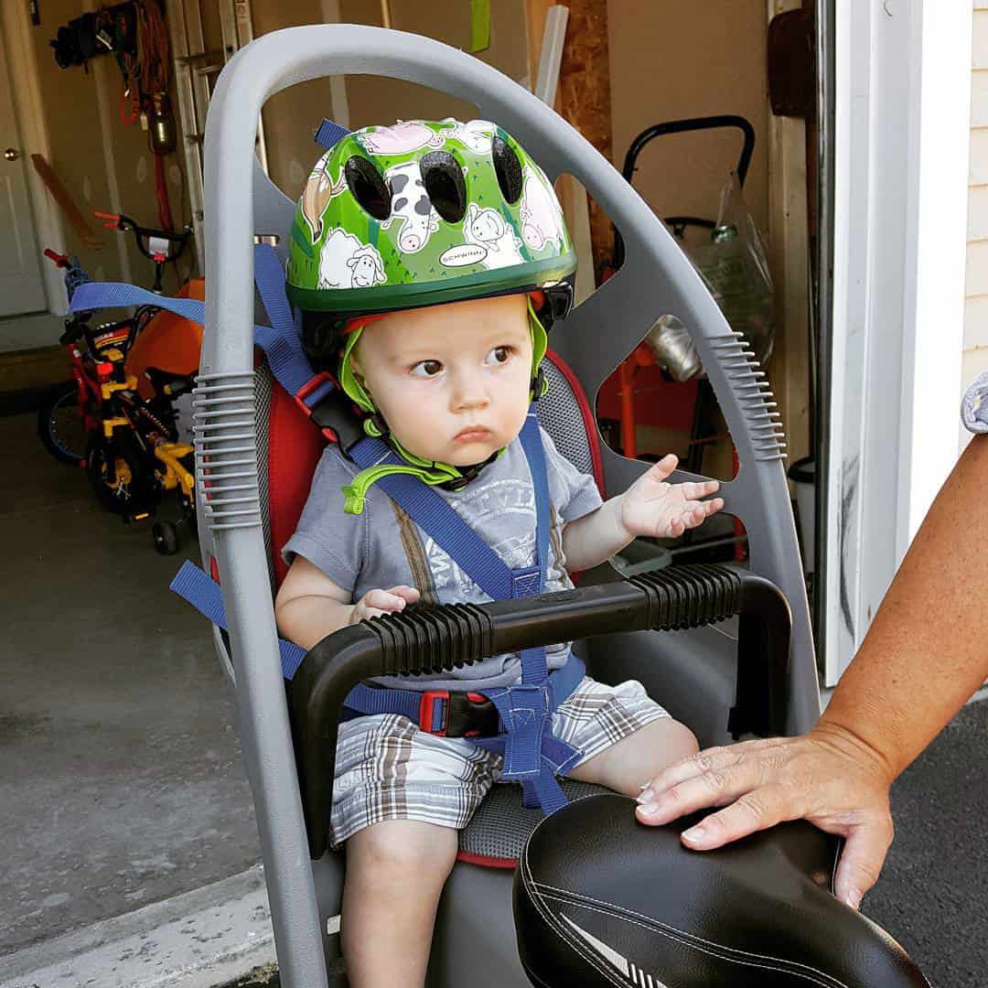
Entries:
{"type": "Polygon", "coordinates": [[[957,456],[971,30],[959,0],[835,5],[828,686],[957,456]]]}

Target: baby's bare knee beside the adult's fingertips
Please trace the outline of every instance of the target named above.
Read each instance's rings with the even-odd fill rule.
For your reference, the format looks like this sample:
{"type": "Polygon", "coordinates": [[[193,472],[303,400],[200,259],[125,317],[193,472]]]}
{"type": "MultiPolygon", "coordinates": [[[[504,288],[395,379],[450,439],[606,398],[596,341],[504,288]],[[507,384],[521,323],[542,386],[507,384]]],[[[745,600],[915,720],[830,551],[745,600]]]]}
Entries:
{"type": "Polygon", "coordinates": [[[698,751],[700,746],[689,727],[672,717],[661,717],[577,766],[568,777],[636,796],[656,773],[698,751]]]}

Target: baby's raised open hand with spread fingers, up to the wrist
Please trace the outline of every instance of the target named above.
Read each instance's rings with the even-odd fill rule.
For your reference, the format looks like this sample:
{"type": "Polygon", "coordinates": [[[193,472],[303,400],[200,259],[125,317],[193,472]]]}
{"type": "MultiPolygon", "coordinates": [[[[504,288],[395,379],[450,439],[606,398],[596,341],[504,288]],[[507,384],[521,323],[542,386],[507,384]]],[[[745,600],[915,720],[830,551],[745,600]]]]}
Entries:
{"type": "Polygon", "coordinates": [[[700,500],[720,489],[716,480],[666,483],[678,463],[669,453],[620,495],[619,518],[628,535],[678,538],[723,508],[723,498],[700,500]]]}

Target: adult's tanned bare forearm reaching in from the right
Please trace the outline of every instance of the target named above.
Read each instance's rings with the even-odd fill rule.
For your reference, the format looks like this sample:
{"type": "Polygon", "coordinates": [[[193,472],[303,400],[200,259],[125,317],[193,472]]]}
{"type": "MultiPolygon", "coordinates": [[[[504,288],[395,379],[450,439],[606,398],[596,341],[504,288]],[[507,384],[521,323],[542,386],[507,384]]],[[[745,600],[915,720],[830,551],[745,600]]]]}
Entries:
{"type": "Polygon", "coordinates": [[[818,729],[902,772],[988,679],[988,436],[950,474],[818,729]]]}

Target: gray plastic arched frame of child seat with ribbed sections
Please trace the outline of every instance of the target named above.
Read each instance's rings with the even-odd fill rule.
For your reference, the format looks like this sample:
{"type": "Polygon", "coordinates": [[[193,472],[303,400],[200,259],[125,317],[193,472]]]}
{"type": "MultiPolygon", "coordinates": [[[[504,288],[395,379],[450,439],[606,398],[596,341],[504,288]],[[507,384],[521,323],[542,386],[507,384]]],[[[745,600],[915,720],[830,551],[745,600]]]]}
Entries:
{"type": "MultiPolygon", "coordinates": [[[[805,730],[818,713],[805,594],[764,377],[750,364],[737,335],[651,209],[550,108],[448,45],[353,25],[290,28],[253,41],[223,69],[206,122],[208,290],[197,460],[200,495],[208,483],[213,506],[207,524],[230,622],[240,733],[287,988],[325,984],[326,975],[277,661],[256,469],[250,463],[255,428],[252,237],[255,232],[280,232],[284,245],[290,223],[289,216],[285,228],[270,228],[285,201],[267,189],[266,179],[255,180],[254,140],[268,97],[298,82],[339,74],[405,79],[474,103],[480,116],[514,133],[550,176],[574,174],[615,221],[626,262],[553,334],[553,346],[593,396],[658,315],[675,313],[689,327],[741,461],[738,478],[725,485],[728,509],[748,530],[754,569],[780,586],[792,607],[789,729],[805,730]],[[257,200],[255,184],[265,190],[257,200]]],[[[321,116],[315,108],[312,121],[300,124],[314,127],[321,116]]],[[[646,465],[608,450],[605,457],[609,483],[616,490],[646,465]]]]}

